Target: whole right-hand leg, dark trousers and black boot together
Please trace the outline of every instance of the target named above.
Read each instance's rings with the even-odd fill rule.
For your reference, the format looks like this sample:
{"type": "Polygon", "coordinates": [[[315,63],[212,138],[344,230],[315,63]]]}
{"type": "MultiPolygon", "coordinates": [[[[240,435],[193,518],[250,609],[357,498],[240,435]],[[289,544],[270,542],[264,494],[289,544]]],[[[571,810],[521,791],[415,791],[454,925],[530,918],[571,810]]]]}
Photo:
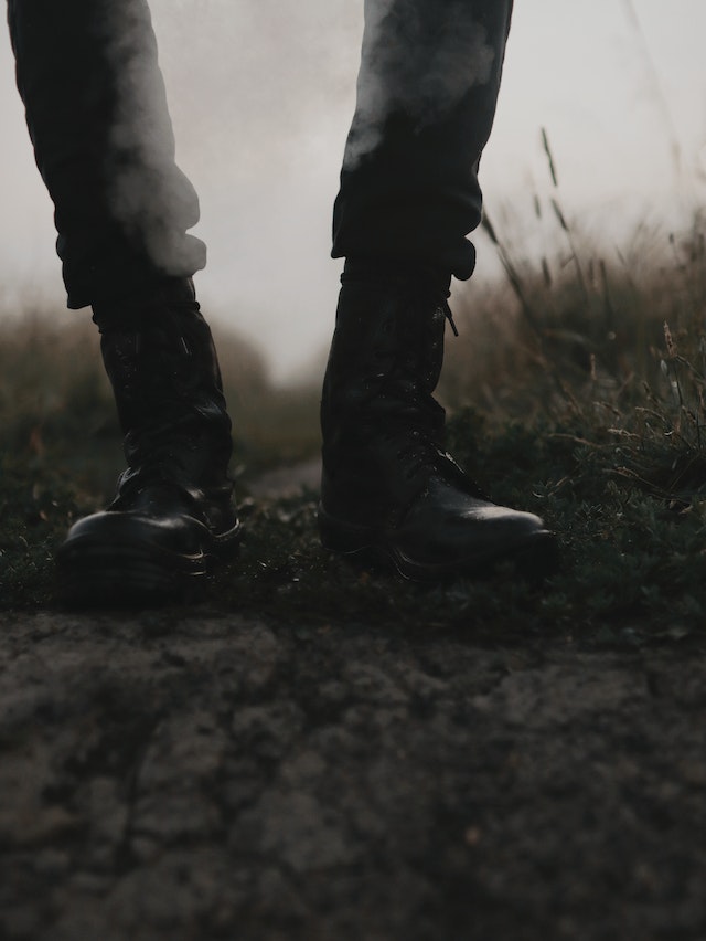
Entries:
{"type": "Polygon", "coordinates": [[[478,165],[511,0],[366,0],[359,98],[334,211],[346,256],[321,403],[323,544],[413,579],[513,559],[544,573],[553,533],[499,507],[446,453],[434,400],[451,275],[470,277],[478,165]]]}

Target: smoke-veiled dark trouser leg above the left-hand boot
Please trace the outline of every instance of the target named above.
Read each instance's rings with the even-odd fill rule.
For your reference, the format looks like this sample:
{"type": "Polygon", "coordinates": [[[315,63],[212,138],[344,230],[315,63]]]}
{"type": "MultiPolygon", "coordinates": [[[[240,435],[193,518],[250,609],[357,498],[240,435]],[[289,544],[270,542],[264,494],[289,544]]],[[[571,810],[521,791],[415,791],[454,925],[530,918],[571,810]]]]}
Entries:
{"type": "Polygon", "coordinates": [[[68,306],[202,268],[145,0],[8,0],[8,22],[68,306]]]}

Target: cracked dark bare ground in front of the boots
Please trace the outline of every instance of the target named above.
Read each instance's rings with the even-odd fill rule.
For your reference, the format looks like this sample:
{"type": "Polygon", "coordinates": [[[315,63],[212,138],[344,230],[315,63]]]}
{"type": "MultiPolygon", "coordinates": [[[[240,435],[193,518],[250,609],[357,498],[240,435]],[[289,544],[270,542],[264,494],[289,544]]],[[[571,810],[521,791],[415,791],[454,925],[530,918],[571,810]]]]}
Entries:
{"type": "Polygon", "coordinates": [[[703,645],[0,616],[3,939],[704,939],[703,645]]]}

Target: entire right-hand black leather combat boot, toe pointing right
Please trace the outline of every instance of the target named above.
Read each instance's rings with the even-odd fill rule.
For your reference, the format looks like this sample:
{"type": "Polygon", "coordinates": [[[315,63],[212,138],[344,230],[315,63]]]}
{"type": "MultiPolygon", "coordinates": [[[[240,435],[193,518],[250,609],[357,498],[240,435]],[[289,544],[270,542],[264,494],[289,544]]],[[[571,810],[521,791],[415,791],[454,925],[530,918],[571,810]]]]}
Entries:
{"type": "Polygon", "coordinates": [[[533,577],[550,571],[554,533],[492,504],[445,451],[431,393],[449,278],[349,263],[342,282],[321,404],[324,548],[424,581],[485,574],[504,560],[533,577]]]}

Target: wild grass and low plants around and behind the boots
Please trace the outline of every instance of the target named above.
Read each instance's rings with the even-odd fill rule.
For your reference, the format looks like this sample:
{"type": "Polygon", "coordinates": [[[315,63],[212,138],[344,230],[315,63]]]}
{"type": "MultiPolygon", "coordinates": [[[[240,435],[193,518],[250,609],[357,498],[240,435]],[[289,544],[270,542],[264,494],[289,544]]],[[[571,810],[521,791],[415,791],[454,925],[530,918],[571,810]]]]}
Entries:
{"type": "MultiPolygon", "coordinates": [[[[274,389],[257,352],[221,336],[248,536],[211,604],[301,631],[341,611],[351,624],[477,637],[632,644],[704,631],[706,218],[606,257],[558,190],[537,210],[554,215],[564,249],[515,257],[486,221],[507,277],[454,298],[461,336],[440,395],[450,450],[496,501],[560,533],[563,570],[542,588],[500,572],[428,589],[322,553],[313,493],[247,499],[248,474],[317,453],[319,390],[274,389]]],[[[0,604],[45,607],[53,550],[110,493],[119,435],[90,325],[60,329],[39,313],[0,323],[0,604]]]]}

